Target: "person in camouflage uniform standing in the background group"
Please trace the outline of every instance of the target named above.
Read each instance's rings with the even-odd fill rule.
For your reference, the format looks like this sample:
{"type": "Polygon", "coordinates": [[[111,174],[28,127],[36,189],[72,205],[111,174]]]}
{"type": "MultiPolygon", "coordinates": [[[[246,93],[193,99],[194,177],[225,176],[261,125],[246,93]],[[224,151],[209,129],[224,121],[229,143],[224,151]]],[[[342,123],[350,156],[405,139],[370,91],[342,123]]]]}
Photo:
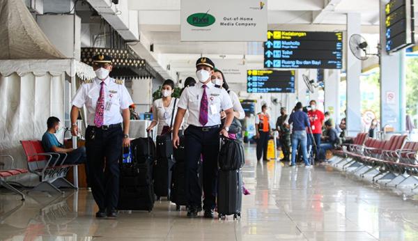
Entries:
{"type": "Polygon", "coordinates": [[[286,108],[281,107],[280,114],[276,122],[276,130],[279,131],[279,140],[281,150],[284,155],[284,162],[290,162],[291,159],[291,127],[288,125],[288,115],[286,114],[286,108]]]}

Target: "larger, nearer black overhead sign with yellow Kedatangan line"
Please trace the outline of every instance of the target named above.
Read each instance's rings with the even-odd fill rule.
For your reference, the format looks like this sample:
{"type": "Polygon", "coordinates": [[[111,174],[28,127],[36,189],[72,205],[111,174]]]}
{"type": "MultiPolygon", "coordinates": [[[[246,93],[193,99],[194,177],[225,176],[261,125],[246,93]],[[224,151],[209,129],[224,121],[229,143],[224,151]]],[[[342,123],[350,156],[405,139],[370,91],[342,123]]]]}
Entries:
{"type": "Polygon", "coordinates": [[[342,67],[342,32],[268,31],[264,68],[342,67]]]}

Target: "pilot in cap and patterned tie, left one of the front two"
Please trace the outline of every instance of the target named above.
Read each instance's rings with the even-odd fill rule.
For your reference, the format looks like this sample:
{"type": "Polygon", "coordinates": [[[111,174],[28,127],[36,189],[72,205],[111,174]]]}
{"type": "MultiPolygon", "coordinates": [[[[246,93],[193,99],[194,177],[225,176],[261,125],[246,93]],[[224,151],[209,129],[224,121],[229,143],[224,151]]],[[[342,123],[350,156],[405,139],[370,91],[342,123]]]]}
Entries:
{"type": "Polygon", "coordinates": [[[133,104],[123,81],[112,79],[111,57],[93,56],[97,77],[85,81],[72,100],[72,135],[77,135],[79,109],[87,111],[86,153],[88,182],[99,206],[96,217],[116,217],[122,146],[129,146],[129,107],[133,104]],[[122,124],[123,122],[123,129],[122,124]],[[106,160],[106,161],[104,161],[106,160]],[[104,164],[106,164],[105,172],[104,164]]]}

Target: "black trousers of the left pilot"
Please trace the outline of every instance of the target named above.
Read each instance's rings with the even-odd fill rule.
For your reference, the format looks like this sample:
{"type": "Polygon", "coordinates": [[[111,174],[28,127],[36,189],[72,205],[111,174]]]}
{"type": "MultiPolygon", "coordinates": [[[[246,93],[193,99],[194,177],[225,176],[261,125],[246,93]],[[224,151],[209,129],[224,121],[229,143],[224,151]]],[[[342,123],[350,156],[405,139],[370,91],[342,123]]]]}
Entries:
{"type": "Polygon", "coordinates": [[[108,130],[88,126],[86,130],[88,182],[100,210],[118,205],[122,139],[120,126],[108,130]]]}

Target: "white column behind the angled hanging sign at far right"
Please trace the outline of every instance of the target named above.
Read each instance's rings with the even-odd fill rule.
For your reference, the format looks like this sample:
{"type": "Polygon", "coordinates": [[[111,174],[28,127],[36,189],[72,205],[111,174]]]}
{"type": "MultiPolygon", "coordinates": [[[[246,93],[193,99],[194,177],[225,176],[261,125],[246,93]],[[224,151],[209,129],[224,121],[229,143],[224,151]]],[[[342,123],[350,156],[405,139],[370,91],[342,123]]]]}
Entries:
{"type": "MultiPolygon", "coordinates": [[[[380,33],[385,33],[385,1],[380,1],[380,33]]],[[[405,130],[405,49],[387,54],[385,35],[380,36],[380,126],[405,130]]]]}

